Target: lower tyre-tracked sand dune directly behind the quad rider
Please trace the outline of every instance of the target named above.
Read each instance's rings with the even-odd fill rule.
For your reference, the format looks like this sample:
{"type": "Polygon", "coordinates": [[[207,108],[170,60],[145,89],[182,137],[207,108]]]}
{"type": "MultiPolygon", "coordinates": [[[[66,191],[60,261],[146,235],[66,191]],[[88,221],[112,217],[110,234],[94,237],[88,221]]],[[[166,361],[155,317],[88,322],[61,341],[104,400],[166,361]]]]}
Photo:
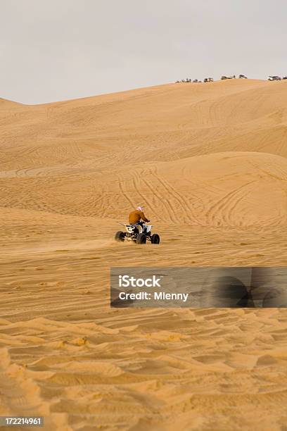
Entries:
{"type": "Polygon", "coordinates": [[[0,173],[0,183],[1,206],[26,211],[125,220],[130,208],[143,203],[155,223],[287,222],[287,160],[274,154],[228,151],[107,170],[9,170],[0,173]]]}

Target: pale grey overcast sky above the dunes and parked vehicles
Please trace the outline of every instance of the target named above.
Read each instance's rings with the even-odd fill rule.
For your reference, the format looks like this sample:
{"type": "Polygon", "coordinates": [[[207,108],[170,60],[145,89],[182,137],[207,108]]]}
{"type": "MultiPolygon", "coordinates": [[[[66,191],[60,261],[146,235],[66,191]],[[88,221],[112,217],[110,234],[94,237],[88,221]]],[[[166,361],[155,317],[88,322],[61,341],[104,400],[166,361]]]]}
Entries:
{"type": "Polygon", "coordinates": [[[0,97],[287,75],[286,23],[286,0],[0,0],[0,97]]]}

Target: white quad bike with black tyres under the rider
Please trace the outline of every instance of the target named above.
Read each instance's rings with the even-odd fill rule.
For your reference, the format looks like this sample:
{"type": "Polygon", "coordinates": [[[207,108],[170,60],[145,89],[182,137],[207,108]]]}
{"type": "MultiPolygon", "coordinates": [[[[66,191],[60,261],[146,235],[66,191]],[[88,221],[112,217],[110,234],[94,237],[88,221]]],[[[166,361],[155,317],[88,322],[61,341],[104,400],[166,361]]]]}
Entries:
{"type": "Polygon", "coordinates": [[[116,241],[134,241],[136,244],[146,244],[146,241],[150,241],[151,244],[160,244],[160,235],[151,233],[152,225],[146,225],[141,222],[143,232],[139,233],[138,225],[125,225],[125,223],[120,223],[125,226],[126,232],[119,230],[115,234],[116,241]]]}

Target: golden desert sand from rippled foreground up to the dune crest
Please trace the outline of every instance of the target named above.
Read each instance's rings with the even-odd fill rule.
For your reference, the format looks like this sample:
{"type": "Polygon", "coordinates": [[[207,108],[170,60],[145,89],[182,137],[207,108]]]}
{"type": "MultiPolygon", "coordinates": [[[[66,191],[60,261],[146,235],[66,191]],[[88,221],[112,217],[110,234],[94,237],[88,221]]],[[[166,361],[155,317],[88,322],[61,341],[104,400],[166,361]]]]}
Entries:
{"type": "Polygon", "coordinates": [[[285,266],[287,82],[0,99],[0,415],[286,430],[285,308],[110,308],[111,266],[285,266]],[[144,205],[159,246],[118,244],[144,205]]]}

